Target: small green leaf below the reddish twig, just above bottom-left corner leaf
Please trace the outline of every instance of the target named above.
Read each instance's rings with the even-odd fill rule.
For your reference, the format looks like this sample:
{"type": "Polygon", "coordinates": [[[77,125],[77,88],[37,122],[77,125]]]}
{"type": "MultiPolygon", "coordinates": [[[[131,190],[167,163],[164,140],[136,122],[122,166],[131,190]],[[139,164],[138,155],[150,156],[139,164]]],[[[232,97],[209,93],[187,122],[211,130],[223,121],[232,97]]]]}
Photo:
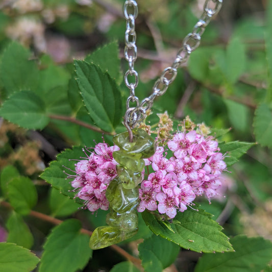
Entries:
{"type": "Polygon", "coordinates": [[[16,243],[24,248],[31,249],[34,238],[20,214],[13,211],[6,226],[9,231],[7,242],[16,243]]]}

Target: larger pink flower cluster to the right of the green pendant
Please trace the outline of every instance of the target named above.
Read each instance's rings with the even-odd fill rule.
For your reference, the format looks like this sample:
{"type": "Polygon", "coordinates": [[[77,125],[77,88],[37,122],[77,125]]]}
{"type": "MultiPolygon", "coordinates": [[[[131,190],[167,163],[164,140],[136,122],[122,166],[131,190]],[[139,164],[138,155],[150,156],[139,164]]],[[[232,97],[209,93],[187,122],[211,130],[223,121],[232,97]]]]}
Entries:
{"type": "Polygon", "coordinates": [[[196,195],[204,194],[208,200],[220,187],[220,174],[226,168],[218,143],[212,137],[204,137],[196,131],[180,132],[167,143],[173,156],[164,155],[163,147],[146,160],[152,166],[151,173],[141,183],[138,211],[145,209],[174,218],[177,210],[183,212],[196,195]]]}

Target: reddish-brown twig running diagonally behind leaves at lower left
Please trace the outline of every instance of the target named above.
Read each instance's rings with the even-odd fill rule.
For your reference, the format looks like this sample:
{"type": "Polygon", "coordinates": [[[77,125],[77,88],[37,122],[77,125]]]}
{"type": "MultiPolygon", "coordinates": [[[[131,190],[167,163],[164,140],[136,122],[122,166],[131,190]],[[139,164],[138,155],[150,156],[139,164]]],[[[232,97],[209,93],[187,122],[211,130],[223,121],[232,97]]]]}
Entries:
{"type": "MultiPolygon", "coordinates": [[[[12,209],[12,206],[6,201],[2,201],[1,205],[8,208],[8,209],[12,209]]],[[[60,225],[63,222],[60,219],[57,219],[55,217],[52,217],[50,215],[47,215],[47,214],[44,214],[41,212],[37,212],[37,211],[30,211],[29,215],[39,218],[43,221],[51,222],[53,225],[60,225]]],[[[92,235],[92,232],[89,230],[86,230],[86,229],[81,229],[81,233],[87,234],[89,236],[92,235]]],[[[131,261],[138,269],[143,271],[140,259],[130,255],[128,252],[121,249],[120,246],[118,246],[116,244],[111,245],[110,248],[113,249],[114,251],[116,251],[117,253],[119,253],[121,256],[123,256],[127,260],[131,261]]]]}

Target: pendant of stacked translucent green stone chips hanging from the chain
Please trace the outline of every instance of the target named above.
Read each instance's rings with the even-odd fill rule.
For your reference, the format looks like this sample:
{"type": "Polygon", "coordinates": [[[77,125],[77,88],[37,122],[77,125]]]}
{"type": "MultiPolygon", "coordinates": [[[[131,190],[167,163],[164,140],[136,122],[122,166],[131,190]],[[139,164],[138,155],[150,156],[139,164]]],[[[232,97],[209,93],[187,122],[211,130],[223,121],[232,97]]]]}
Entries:
{"type": "Polygon", "coordinates": [[[93,250],[106,248],[137,233],[137,186],[142,182],[143,159],[151,157],[156,149],[152,137],[141,129],[133,130],[133,142],[129,141],[128,132],[115,135],[113,142],[120,150],[113,152],[113,158],[119,163],[116,167],[118,177],[111,181],[106,191],[110,208],[106,221],[109,226],[94,230],[89,242],[93,250]]]}

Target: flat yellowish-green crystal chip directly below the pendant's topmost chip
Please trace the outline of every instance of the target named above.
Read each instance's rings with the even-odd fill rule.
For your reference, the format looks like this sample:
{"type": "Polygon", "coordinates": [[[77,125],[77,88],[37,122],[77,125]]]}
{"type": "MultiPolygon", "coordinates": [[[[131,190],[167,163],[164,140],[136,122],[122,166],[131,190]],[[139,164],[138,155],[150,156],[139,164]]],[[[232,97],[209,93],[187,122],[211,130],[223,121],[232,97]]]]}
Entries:
{"type": "Polygon", "coordinates": [[[125,152],[119,150],[113,152],[113,158],[121,165],[126,166],[135,172],[141,172],[144,168],[144,160],[141,159],[141,154],[126,154],[125,152]]]}

